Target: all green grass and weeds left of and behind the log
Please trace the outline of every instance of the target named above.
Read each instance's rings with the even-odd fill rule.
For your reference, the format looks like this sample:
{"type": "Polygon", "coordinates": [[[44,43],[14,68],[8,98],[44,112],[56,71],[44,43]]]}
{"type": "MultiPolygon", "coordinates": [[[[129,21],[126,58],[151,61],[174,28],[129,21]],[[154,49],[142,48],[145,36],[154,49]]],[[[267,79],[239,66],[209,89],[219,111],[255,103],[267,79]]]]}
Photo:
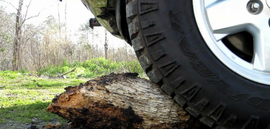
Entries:
{"type": "Polygon", "coordinates": [[[33,120],[44,125],[66,123],[57,115],[46,112],[55,95],[64,92],[67,86],[76,86],[111,72],[138,72],[145,77],[136,61],[111,62],[103,58],[72,64],[64,62],[62,66],[52,66],[38,72],[0,71],[0,128],[15,128],[7,125],[25,124],[33,120]],[[73,68],[77,69],[67,75],[68,79],[54,78],[73,68]]]}

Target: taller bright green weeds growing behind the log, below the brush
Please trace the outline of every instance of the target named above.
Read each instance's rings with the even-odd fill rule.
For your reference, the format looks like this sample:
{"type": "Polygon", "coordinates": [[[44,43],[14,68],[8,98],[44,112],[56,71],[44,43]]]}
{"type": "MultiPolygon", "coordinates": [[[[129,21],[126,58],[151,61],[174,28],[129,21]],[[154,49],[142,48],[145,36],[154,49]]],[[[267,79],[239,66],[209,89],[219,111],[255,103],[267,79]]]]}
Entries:
{"type": "Polygon", "coordinates": [[[44,69],[41,69],[38,74],[39,75],[46,75],[46,76],[57,76],[68,72],[72,69],[76,68],[75,72],[72,72],[67,75],[70,78],[95,78],[100,77],[102,75],[107,75],[112,72],[119,73],[119,72],[137,72],[139,73],[140,77],[146,77],[144,74],[144,70],[141,68],[139,61],[109,61],[105,58],[96,58],[91,59],[85,62],[74,62],[74,63],[67,63],[64,61],[63,65],[61,66],[51,66],[44,69]]]}

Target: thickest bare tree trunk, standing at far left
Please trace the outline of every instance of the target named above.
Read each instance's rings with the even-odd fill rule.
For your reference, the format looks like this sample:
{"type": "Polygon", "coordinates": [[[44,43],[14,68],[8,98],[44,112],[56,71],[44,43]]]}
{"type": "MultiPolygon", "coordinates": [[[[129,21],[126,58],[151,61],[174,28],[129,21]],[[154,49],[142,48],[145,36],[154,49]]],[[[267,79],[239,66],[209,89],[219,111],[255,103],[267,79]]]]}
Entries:
{"type": "Polygon", "coordinates": [[[19,62],[19,43],[21,40],[21,10],[23,6],[23,0],[19,0],[19,8],[17,9],[16,15],[16,25],[15,25],[15,41],[13,48],[13,61],[12,61],[12,70],[19,70],[18,62],[19,62]]]}

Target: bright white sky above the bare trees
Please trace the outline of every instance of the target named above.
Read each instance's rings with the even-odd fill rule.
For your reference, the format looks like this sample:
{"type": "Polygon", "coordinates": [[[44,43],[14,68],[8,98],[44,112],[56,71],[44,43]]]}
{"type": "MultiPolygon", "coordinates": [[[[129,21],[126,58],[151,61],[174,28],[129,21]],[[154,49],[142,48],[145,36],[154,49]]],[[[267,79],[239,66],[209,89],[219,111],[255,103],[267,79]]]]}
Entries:
{"type": "MultiPolygon", "coordinates": [[[[5,0],[12,3],[13,6],[16,8],[18,7],[19,0],[5,0]]],[[[23,1],[23,14],[26,11],[26,7],[29,4],[30,0],[23,1]]],[[[63,0],[62,2],[59,1],[59,10],[60,10],[60,21],[65,21],[65,2],[67,2],[67,29],[71,34],[74,34],[77,29],[79,28],[80,24],[85,23],[89,20],[89,18],[94,18],[93,14],[82,4],[80,0],[63,0]]],[[[7,7],[7,12],[14,12],[16,10],[14,7],[0,1],[0,6],[7,7]]],[[[58,0],[32,0],[30,7],[28,9],[28,17],[34,16],[39,14],[38,17],[32,18],[27,21],[27,23],[32,23],[35,25],[39,25],[42,21],[46,19],[46,17],[52,15],[56,19],[58,19],[58,0]]],[[[104,28],[97,27],[95,31],[104,37],[104,28]]],[[[103,42],[104,39],[101,41],[103,42]]],[[[112,35],[109,35],[109,46],[117,47],[123,46],[123,40],[120,40],[112,35]]],[[[102,44],[99,43],[100,46],[102,44]]]]}

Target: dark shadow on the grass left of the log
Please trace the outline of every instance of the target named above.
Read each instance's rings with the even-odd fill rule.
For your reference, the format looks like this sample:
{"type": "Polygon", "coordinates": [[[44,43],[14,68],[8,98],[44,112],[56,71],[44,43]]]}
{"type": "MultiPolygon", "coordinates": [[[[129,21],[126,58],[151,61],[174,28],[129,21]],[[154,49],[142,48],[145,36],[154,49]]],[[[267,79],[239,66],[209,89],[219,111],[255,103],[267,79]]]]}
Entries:
{"type": "MultiPolygon", "coordinates": [[[[60,129],[68,129],[68,121],[46,112],[49,102],[0,108],[0,129],[27,129],[31,126],[43,129],[47,124],[61,123],[60,129]]],[[[117,127],[116,127],[117,128],[117,127]]],[[[85,129],[83,127],[72,129],[85,129]]],[[[211,129],[201,124],[199,129],[211,129]]]]}

